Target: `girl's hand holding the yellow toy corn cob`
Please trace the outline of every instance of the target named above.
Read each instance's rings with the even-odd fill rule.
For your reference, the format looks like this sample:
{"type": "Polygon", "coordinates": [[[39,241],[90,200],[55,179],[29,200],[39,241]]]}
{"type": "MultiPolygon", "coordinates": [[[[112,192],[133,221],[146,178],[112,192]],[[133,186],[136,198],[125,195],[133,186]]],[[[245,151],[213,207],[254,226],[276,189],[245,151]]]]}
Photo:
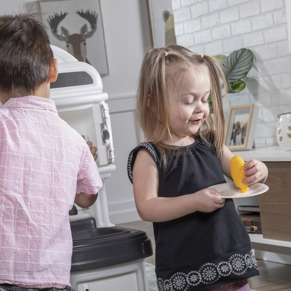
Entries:
{"type": "Polygon", "coordinates": [[[251,159],[245,162],[244,174],[249,175],[249,177],[242,179],[242,182],[247,185],[258,182],[265,183],[268,176],[268,169],[263,162],[251,159]]]}

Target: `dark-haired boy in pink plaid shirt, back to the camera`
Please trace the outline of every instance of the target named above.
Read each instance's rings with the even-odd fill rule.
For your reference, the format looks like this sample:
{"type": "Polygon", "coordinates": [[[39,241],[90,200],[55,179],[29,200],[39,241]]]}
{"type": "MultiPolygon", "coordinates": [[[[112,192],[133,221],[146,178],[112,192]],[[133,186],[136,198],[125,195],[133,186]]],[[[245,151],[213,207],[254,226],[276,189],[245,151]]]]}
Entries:
{"type": "Polygon", "coordinates": [[[71,290],[68,212],[102,180],[96,150],[49,99],[58,61],[39,15],[0,16],[0,76],[0,290],[71,290]]]}

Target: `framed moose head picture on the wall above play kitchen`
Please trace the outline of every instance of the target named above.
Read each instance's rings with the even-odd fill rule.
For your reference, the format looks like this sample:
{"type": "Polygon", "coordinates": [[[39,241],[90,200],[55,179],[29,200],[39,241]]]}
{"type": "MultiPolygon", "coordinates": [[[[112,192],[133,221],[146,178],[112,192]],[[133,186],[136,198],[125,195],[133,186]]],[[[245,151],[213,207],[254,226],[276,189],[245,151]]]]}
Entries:
{"type": "Polygon", "coordinates": [[[38,9],[52,45],[108,75],[100,0],[40,0],[38,9]]]}

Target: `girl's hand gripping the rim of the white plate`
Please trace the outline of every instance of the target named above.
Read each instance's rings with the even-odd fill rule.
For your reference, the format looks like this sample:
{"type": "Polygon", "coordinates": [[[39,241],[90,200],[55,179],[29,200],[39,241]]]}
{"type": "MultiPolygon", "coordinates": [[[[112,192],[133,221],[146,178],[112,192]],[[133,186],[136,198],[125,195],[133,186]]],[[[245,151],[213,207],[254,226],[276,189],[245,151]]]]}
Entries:
{"type": "Polygon", "coordinates": [[[212,212],[224,206],[225,198],[215,189],[202,189],[192,194],[195,199],[195,211],[212,212]]]}

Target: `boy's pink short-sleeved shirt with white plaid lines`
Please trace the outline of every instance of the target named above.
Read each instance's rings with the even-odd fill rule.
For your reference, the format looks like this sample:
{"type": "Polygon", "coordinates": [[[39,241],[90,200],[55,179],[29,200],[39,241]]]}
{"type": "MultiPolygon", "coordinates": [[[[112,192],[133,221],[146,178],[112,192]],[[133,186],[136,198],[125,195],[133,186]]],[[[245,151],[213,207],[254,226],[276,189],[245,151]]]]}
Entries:
{"type": "Polygon", "coordinates": [[[0,283],[70,286],[68,212],[102,187],[88,145],[53,100],[12,98],[0,109],[0,283]]]}

